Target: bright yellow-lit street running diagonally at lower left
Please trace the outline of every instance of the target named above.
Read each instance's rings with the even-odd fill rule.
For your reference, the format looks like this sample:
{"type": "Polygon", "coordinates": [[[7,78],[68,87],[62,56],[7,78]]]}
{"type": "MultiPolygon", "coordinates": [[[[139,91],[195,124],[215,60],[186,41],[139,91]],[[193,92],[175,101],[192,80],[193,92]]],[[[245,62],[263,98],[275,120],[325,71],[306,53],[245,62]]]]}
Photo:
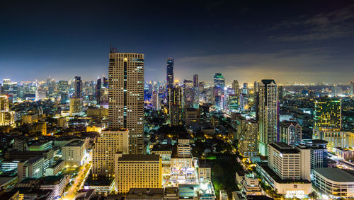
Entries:
{"type": "Polygon", "coordinates": [[[86,163],[84,168],[79,171],[79,174],[75,177],[74,184],[69,188],[66,195],[63,197],[63,200],[72,200],[75,197],[75,194],[79,189],[81,189],[84,184],[84,180],[87,175],[89,175],[91,169],[91,163],[86,163]]]}

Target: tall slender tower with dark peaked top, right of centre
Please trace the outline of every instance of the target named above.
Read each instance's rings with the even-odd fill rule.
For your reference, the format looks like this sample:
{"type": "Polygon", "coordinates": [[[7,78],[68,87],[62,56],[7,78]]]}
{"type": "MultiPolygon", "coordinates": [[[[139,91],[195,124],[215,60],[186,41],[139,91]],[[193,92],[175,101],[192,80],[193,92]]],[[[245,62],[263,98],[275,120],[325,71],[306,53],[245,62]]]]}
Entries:
{"type": "Polygon", "coordinates": [[[278,141],[278,90],[273,79],[261,81],[258,107],[258,150],[261,155],[267,155],[268,143],[278,141]]]}

